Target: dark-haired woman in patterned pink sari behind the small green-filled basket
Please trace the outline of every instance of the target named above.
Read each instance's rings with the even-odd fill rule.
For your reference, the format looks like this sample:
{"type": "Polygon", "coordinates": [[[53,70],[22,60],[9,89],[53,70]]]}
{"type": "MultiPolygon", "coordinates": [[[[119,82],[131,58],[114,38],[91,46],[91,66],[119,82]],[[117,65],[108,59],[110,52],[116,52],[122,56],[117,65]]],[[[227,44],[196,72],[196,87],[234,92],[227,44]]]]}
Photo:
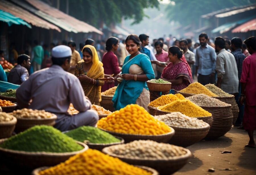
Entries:
{"type": "Polygon", "coordinates": [[[172,83],[172,89],[181,90],[193,83],[191,69],[187,63],[183,50],[172,46],[168,50],[170,63],[164,68],[161,79],[172,83]]]}

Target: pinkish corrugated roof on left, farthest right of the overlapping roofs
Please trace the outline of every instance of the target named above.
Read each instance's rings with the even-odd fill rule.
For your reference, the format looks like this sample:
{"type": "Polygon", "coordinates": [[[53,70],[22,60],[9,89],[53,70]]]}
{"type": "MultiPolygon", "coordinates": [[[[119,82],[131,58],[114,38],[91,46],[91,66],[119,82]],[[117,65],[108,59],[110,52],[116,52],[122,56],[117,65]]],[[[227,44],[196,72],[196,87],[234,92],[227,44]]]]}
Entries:
{"type": "Polygon", "coordinates": [[[96,33],[103,35],[102,31],[96,29],[95,27],[87,24],[86,22],[77,20],[76,18],[63,13],[60,10],[58,10],[54,7],[51,7],[42,1],[38,1],[38,0],[26,0],[26,1],[28,3],[30,3],[31,5],[33,5],[34,7],[36,7],[37,9],[41,10],[42,12],[44,12],[50,16],[53,16],[65,23],[69,24],[70,26],[73,26],[73,28],[75,28],[78,32],[84,32],[84,33],[96,32],[96,33]]]}

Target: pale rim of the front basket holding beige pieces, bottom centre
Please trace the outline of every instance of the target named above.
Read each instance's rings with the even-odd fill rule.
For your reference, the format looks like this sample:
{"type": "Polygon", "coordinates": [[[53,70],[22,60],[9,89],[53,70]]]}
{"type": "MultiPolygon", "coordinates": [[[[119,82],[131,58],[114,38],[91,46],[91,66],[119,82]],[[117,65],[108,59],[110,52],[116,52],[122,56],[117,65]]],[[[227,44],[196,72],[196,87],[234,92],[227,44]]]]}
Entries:
{"type": "MultiPolygon", "coordinates": [[[[125,145],[125,144],[121,144],[121,145],[125,145]]],[[[177,146],[177,147],[180,147],[181,149],[183,149],[184,151],[186,151],[186,154],[183,154],[183,155],[180,155],[180,156],[174,156],[174,157],[171,157],[171,158],[168,158],[168,159],[152,159],[152,158],[146,158],[146,159],[141,159],[141,158],[128,158],[128,157],[125,157],[123,155],[117,155],[117,154],[114,154],[114,153],[109,153],[109,149],[111,147],[115,147],[115,146],[120,146],[120,145],[113,145],[113,146],[109,146],[109,147],[105,147],[102,149],[102,152],[105,153],[105,154],[108,154],[112,157],[117,157],[117,158],[121,158],[121,159],[127,159],[127,160],[136,160],[136,161],[147,161],[147,162],[156,162],[156,161],[160,161],[160,162],[170,162],[170,161],[177,161],[177,160],[182,160],[182,159],[188,159],[189,157],[191,157],[191,152],[189,151],[189,149],[187,148],[184,148],[184,147],[180,147],[180,146],[177,146]]],[[[176,145],[175,145],[176,146],[176,145]]]]}

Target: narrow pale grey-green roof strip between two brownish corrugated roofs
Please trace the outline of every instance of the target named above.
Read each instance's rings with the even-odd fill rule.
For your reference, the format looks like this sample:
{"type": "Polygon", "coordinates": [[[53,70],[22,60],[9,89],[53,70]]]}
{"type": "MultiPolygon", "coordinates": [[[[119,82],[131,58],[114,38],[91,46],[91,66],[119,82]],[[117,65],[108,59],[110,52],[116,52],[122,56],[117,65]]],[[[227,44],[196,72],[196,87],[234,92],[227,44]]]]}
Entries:
{"type": "Polygon", "coordinates": [[[31,6],[30,4],[27,4],[26,2],[24,1],[20,1],[20,0],[11,0],[13,3],[23,7],[24,9],[36,14],[37,16],[40,16],[41,18],[55,24],[56,26],[59,26],[60,28],[63,28],[64,30],[66,31],[69,31],[69,32],[74,32],[74,33],[78,33],[78,31],[73,28],[72,26],[70,26],[69,24],[66,24],[65,22],[57,19],[57,18],[54,18],[53,16],[50,16],[38,9],[35,9],[33,6],[31,6]]]}

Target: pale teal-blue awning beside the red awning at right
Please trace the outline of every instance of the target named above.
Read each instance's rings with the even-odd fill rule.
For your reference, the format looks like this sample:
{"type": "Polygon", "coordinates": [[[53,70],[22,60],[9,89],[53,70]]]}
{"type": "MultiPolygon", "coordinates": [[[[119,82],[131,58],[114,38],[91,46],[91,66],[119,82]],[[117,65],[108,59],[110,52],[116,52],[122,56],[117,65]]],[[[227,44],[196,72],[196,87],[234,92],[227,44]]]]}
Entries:
{"type": "Polygon", "coordinates": [[[254,17],[254,16],[251,16],[251,17],[249,17],[249,18],[244,18],[244,19],[238,20],[238,21],[236,21],[236,22],[228,22],[228,23],[226,23],[226,24],[223,24],[223,25],[221,25],[221,26],[219,26],[219,27],[213,29],[213,30],[211,31],[211,33],[217,33],[217,32],[219,32],[220,34],[225,33],[225,32],[227,32],[227,31],[229,31],[230,29],[236,27],[238,24],[243,24],[243,23],[245,23],[245,22],[247,22],[247,21],[249,21],[249,20],[251,20],[251,19],[253,19],[253,18],[255,18],[255,17],[254,17]]]}

